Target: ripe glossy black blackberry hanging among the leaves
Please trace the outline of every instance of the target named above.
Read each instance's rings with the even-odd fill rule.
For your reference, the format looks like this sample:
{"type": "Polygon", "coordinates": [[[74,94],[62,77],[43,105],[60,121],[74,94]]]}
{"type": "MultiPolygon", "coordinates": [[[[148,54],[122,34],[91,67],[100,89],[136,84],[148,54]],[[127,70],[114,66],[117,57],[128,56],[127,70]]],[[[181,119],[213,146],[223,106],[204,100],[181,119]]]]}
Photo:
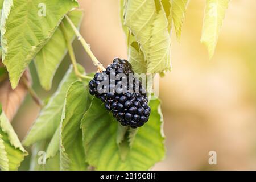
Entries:
{"type": "Polygon", "coordinates": [[[137,128],[148,121],[150,107],[146,90],[133,74],[127,60],[114,59],[106,71],[94,75],[89,92],[100,98],[123,126],[137,128]]]}

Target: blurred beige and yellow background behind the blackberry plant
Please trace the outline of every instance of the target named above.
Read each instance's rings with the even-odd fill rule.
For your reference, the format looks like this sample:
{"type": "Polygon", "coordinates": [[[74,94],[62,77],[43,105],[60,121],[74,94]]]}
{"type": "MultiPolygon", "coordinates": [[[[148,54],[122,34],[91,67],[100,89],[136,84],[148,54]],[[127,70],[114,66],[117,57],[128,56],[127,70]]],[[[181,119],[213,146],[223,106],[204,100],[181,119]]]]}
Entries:
{"type": "MultiPolygon", "coordinates": [[[[80,5],[81,33],[96,57],[105,66],[114,57],[126,59],[119,1],[80,0],[80,5]]],[[[200,43],[203,15],[204,1],[191,1],[180,42],[172,34],[172,72],[160,79],[167,154],[152,169],[256,170],[256,1],[231,1],[212,60],[200,43]],[[217,165],[209,165],[209,151],[217,152],[217,165]]],[[[96,71],[77,40],[74,47],[86,71],[96,71]]],[[[41,98],[56,90],[68,65],[66,56],[47,93],[30,65],[41,98]]],[[[38,111],[27,96],[13,121],[20,139],[38,111]]]]}

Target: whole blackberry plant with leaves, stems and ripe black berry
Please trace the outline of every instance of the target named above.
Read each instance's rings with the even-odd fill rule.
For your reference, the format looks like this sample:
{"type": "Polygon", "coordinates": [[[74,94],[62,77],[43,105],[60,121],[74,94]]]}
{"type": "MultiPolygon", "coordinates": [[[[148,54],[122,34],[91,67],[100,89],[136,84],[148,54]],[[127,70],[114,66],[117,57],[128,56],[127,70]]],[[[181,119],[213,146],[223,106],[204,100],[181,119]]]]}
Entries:
{"type": "MultiPolygon", "coordinates": [[[[16,170],[30,159],[31,170],[147,170],[162,160],[160,100],[148,99],[154,95],[146,90],[150,84],[143,85],[134,73],[154,77],[170,70],[171,30],[180,37],[188,3],[121,0],[128,60],[114,59],[105,69],[79,32],[83,11],[76,0],[1,0],[0,169],[16,170]],[[86,73],[77,64],[75,37],[96,72],[86,73]],[[68,71],[42,102],[32,89],[28,65],[35,64],[40,85],[48,91],[67,53],[68,71]],[[10,121],[27,92],[40,113],[20,142],[10,121]],[[30,158],[23,146],[32,146],[30,158]]],[[[201,41],[210,56],[228,3],[206,0],[201,41]]]]}

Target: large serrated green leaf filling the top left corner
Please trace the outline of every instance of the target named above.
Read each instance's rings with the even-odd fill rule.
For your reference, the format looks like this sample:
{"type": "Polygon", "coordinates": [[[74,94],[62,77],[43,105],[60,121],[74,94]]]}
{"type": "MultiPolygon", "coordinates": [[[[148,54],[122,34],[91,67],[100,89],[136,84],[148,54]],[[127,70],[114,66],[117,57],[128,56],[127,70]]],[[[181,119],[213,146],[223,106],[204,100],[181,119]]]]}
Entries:
{"type": "Polygon", "coordinates": [[[78,3],[71,0],[4,1],[1,21],[2,58],[13,89],[18,85],[27,65],[73,7],[78,7],[78,3]],[[46,16],[40,14],[42,7],[39,5],[45,5],[46,16]]]}

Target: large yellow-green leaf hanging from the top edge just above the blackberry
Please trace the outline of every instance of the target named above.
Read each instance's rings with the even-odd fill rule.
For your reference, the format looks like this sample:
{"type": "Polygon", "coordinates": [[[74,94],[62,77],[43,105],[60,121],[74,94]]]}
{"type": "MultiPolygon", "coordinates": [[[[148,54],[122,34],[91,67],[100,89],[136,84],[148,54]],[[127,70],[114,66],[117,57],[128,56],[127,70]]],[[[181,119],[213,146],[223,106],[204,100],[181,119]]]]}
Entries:
{"type": "MultiPolygon", "coordinates": [[[[170,14],[166,14],[168,8],[163,5],[166,4],[154,0],[134,0],[128,1],[125,9],[124,24],[139,43],[147,73],[161,73],[171,66],[170,14]]],[[[139,69],[137,66],[134,68],[139,69]]]]}

